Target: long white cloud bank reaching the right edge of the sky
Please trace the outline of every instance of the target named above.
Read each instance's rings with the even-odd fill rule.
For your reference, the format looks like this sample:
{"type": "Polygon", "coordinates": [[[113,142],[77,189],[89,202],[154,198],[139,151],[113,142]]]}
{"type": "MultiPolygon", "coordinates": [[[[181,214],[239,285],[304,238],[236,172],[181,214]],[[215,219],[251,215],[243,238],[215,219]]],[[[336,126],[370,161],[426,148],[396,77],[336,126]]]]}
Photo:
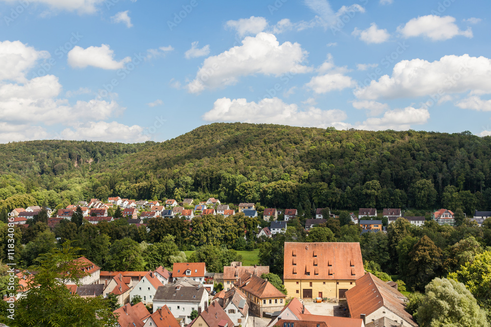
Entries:
{"type": "Polygon", "coordinates": [[[447,55],[429,62],[422,59],[398,62],[392,76],[355,90],[358,99],[410,98],[437,93],[491,93],[491,60],[485,57],[447,55]]]}

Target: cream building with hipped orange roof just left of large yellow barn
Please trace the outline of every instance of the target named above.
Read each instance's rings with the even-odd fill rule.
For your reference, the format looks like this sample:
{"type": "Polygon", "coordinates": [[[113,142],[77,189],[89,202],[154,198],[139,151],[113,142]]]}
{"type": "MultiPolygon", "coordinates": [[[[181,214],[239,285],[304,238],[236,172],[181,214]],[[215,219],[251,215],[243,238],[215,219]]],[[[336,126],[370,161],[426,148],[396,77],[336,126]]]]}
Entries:
{"type": "Polygon", "coordinates": [[[285,305],[286,295],[269,281],[250,273],[244,273],[235,283],[247,297],[249,310],[262,317],[265,312],[279,311],[285,305]]]}

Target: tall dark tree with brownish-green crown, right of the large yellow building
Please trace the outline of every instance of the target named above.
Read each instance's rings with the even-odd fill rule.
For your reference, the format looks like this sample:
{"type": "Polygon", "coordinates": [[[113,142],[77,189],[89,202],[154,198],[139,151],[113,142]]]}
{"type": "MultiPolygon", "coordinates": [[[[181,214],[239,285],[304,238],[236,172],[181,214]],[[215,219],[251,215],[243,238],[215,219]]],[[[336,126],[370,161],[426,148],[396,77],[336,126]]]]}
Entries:
{"type": "Polygon", "coordinates": [[[441,267],[441,250],[428,237],[423,236],[409,252],[408,284],[414,290],[423,290],[441,267]]]}

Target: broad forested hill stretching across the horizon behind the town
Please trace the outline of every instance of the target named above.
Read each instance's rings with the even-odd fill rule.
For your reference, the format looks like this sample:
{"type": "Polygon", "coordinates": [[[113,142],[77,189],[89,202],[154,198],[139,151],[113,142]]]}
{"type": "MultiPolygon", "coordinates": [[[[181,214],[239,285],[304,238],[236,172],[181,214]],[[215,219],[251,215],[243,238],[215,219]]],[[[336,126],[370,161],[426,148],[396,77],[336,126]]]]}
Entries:
{"type": "Polygon", "coordinates": [[[23,183],[36,180],[36,187],[55,191],[66,190],[64,181],[77,178],[71,197],[179,201],[215,196],[222,202],[282,208],[445,206],[471,213],[476,208],[487,210],[491,203],[490,145],[491,137],[469,132],[217,123],[157,144],[2,145],[0,170],[24,176],[23,183]],[[46,149],[55,152],[51,155],[46,149]],[[82,168],[91,159],[96,160],[91,170],[82,168]],[[63,163],[68,169],[55,168],[63,163]],[[33,174],[31,167],[40,169],[33,174]]]}

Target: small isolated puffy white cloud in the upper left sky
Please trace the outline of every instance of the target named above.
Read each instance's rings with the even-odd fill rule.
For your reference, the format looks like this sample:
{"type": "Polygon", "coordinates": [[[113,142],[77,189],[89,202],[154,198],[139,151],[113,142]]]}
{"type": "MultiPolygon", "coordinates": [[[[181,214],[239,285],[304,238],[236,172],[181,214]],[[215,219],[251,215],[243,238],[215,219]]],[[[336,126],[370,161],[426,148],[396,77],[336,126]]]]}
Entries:
{"type": "Polygon", "coordinates": [[[130,61],[131,57],[126,57],[120,61],[114,60],[114,51],[107,44],[103,44],[100,47],[88,47],[87,49],[75,46],[68,52],[68,64],[73,68],[93,66],[116,70],[123,68],[130,61]]]}

